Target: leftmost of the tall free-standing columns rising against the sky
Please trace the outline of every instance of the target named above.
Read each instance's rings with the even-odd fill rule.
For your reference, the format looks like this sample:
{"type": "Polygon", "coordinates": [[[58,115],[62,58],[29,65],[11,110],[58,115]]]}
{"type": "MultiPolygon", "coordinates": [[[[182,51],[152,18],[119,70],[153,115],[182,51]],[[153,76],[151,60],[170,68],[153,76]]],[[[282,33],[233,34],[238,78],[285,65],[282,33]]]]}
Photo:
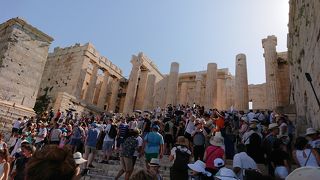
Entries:
{"type": "Polygon", "coordinates": [[[178,92],[178,81],[179,81],[179,63],[171,63],[170,75],[168,80],[166,105],[172,104],[173,106],[177,103],[177,92],[178,92]]]}

